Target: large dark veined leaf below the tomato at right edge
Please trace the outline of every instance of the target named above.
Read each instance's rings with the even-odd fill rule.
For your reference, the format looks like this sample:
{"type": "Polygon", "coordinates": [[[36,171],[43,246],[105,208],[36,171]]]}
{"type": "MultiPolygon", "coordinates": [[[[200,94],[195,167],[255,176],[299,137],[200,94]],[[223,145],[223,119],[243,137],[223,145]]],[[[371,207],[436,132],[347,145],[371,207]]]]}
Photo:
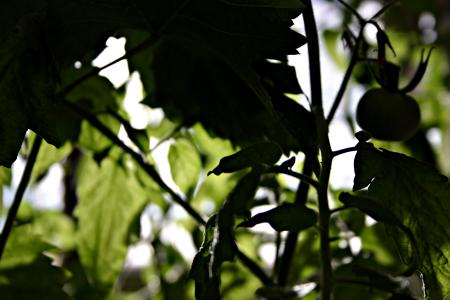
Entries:
{"type": "Polygon", "coordinates": [[[429,165],[387,150],[360,148],[354,190],[369,185],[368,196],[382,204],[414,234],[419,270],[431,299],[450,294],[450,184],[429,165]]]}

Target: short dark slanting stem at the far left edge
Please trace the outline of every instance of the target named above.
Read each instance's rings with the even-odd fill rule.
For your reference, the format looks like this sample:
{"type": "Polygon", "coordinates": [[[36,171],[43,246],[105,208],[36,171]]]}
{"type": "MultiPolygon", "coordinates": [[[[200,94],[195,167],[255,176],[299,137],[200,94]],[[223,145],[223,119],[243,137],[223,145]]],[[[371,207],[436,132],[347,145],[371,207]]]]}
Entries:
{"type": "Polygon", "coordinates": [[[6,217],[5,225],[0,235],[0,259],[3,255],[3,251],[5,250],[6,242],[8,241],[9,234],[11,233],[14,220],[16,219],[23,194],[25,193],[25,189],[30,182],[31,172],[33,171],[34,164],[36,163],[36,158],[39,153],[39,149],[41,148],[41,143],[42,138],[36,135],[33,145],[31,146],[30,155],[28,156],[28,161],[23,171],[22,178],[20,179],[19,186],[17,187],[16,194],[14,195],[13,203],[8,211],[8,216],[6,217]]]}

